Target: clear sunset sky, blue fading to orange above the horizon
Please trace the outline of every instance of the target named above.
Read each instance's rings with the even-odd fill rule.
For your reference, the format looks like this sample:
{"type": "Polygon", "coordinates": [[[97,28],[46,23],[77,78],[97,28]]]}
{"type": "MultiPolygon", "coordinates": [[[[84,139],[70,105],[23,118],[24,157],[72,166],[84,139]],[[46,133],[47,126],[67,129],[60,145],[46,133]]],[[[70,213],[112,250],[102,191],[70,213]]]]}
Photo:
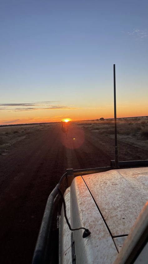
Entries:
{"type": "Polygon", "coordinates": [[[0,124],[148,115],[148,1],[1,0],[0,124]]]}

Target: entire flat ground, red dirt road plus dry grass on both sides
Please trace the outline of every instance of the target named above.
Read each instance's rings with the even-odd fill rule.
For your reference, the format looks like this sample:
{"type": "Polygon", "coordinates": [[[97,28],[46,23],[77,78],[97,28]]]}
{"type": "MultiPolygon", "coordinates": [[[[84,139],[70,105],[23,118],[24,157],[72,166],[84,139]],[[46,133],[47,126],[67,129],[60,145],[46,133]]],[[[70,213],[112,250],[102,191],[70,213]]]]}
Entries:
{"type": "MultiPolygon", "coordinates": [[[[110,166],[112,119],[0,127],[1,263],[31,263],[46,201],[67,168],[110,166]]],[[[148,118],[117,119],[119,161],[148,159],[148,118]]]]}

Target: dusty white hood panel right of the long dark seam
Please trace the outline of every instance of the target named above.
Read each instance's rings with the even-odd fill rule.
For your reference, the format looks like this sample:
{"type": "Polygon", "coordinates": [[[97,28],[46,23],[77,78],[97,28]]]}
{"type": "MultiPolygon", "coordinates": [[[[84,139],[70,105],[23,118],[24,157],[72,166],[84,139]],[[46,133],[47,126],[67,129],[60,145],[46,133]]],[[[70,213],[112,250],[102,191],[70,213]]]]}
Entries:
{"type": "Polygon", "coordinates": [[[83,176],[112,236],[129,234],[148,199],[148,168],[83,176]]]}

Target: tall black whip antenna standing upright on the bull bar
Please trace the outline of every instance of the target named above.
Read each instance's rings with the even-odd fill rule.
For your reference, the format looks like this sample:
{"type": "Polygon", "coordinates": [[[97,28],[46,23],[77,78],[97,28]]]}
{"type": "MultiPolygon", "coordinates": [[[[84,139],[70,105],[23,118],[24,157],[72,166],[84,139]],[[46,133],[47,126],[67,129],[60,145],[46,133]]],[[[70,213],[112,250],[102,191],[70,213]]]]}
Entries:
{"type": "Polygon", "coordinates": [[[115,127],[115,168],[118,168],[118,149],[117,149],[117,117],[116,117],[116,73],[114,64],[114,127],[115,127]]]}

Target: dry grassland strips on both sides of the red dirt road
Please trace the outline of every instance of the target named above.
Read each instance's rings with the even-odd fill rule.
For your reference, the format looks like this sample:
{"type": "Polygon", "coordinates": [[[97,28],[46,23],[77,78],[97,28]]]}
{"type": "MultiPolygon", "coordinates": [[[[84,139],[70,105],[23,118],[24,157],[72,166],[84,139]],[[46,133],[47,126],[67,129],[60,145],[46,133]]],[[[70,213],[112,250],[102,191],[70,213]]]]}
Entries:
{"type": "MultiPolygon", "coordinates": [[[[73,123],[73,122],[72,122],[73,123]]],[[[80,126],[84,131],[90,130],[97,135],[105,135],[107,137],[114,137],[114,120],[88,120],[77,121],[73,123],[80,126]]],[[[52,124],[36,124],[36,125],[21,125],[0,127],[0,154],[5,155],[9,151],[9,147],[19,140],[31,134],[40,133],[51,126],[52,124]]],[[[132,144],[143,146],[148,143],[148,117],[137,118],[123,118],[117,119],[117,134],[118,139],[132,144]]]]}

